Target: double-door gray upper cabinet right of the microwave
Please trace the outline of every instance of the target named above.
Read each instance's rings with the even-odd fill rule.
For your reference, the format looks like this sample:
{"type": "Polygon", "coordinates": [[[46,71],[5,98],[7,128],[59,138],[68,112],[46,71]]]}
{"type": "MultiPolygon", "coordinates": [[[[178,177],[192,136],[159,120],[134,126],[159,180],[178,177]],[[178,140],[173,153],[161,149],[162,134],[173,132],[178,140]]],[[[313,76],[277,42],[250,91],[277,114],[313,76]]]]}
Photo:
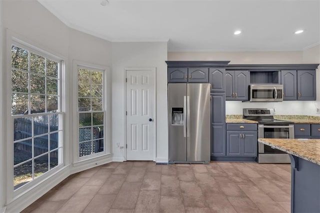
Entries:
{"type": "Polygon", "coordinates": [[[283,100],[315,100],[315,70],[281,70],[283,100]]]}

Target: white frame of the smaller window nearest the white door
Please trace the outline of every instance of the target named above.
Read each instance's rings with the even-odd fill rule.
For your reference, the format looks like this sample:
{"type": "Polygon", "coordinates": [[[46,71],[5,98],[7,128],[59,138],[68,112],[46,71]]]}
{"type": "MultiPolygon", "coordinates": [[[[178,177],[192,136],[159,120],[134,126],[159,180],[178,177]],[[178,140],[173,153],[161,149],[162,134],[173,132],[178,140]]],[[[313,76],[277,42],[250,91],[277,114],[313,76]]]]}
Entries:
{"type": "MultiPolygon", "coordinates": [[[[109,155],[110,154],[110,126],[111,126],[111,75],[110,69],[107,66],[99,65],[99,64],[92,64],[88,62],[83,62],[79,60],[73,61],[73,103],[74,103],[74,110],[73,110],[73,162],[82,162],[85,160],[93,159],[96,157],[109,155]],[[79,110],[78,110],[78,68],[84,68],[89,70],[97,70],[102,71],[103,74],[103,94],[102,94],[102,111],[104,112],[104,120],[103,120],[103,151],[88,154],[85,156],[79,156],[79,110]]],[[[92,111],[83,111],[85,112],[92,112],[92,111]]]]}

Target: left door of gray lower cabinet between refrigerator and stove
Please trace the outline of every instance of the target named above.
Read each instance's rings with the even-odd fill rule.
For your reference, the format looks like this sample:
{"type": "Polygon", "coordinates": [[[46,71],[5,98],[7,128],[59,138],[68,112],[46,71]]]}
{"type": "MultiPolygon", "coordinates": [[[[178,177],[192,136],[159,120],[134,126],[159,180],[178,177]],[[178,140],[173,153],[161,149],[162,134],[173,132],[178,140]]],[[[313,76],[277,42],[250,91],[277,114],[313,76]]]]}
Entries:
{"type": "Polygon", "coordinates": [[[240,132],[226,132],[226,156],[240,156],[241,154],[240,132]]]}

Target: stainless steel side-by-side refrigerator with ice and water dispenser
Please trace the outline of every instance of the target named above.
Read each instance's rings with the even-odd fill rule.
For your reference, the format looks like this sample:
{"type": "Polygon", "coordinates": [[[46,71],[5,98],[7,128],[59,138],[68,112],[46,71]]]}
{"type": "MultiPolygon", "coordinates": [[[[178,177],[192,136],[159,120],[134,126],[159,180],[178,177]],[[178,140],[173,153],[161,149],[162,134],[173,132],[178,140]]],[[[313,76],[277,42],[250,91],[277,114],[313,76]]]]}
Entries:
{"type": "Polygon", "coordinates": [[[168,83],[169,163],[210,161],[210,84],[168,83]]]}

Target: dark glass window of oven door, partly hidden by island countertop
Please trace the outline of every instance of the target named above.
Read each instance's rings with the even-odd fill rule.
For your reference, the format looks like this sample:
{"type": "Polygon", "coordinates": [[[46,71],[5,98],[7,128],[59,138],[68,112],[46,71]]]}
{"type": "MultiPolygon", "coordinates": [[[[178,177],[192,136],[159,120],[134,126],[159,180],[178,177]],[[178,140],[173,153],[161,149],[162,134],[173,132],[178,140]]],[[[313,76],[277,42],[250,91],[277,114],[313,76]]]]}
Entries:
{"type": "MultiPolygon", "coordinates": [[[[289,138],[289,128],[263,128],[264,138],[289,138]]],[[[284,151],[271,148],[268,145],[264,145],[263,153],[286,153],[284,151]]]]}

